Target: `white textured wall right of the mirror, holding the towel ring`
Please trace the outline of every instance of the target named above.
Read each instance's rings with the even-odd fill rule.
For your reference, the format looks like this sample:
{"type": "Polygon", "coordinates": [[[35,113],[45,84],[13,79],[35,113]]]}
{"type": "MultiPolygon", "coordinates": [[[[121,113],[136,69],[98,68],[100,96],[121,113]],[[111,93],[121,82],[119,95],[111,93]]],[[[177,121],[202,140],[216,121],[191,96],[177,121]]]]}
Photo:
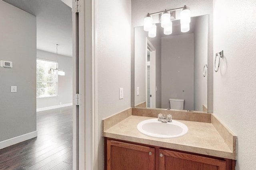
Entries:
{"type": "Polygon", "coordinates": [[[214,113],[238,135],[236,170],[256,168],[256,0],[214,0],[214,113]]]}

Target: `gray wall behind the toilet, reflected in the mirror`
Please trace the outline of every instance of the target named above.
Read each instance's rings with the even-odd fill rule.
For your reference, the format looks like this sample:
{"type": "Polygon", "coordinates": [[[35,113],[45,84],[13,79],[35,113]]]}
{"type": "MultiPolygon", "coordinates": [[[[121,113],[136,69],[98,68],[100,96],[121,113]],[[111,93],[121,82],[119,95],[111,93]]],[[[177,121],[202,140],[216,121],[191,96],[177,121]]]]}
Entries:
{"type": "Polygon", "coordinates": [[[162,37],[162,106],[169,98],[184,99],[184,109],[194,110],[194,34],[162,37]]]}

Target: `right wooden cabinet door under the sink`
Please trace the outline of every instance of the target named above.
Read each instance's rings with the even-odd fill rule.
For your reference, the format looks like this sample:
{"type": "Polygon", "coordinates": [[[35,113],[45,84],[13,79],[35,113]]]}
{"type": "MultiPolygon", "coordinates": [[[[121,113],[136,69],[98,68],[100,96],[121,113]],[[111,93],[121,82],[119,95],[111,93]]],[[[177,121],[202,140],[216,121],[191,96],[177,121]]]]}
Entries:
{"type": "Polygon", "coordinates": [[[160,149],[159,170],[226,170],[226,161],[160,149]]]}

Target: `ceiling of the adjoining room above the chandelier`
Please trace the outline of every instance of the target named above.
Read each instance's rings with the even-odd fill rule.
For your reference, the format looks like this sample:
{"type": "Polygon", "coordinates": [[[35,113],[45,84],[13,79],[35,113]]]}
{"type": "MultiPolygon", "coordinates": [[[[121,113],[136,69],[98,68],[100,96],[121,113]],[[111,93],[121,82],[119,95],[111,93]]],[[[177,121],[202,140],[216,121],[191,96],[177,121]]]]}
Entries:
{"type": "Polygon", "coordinates": [[[36,16],[36,47],[72,57],[72,11],[62,0],[3,0],[36,16]]]}

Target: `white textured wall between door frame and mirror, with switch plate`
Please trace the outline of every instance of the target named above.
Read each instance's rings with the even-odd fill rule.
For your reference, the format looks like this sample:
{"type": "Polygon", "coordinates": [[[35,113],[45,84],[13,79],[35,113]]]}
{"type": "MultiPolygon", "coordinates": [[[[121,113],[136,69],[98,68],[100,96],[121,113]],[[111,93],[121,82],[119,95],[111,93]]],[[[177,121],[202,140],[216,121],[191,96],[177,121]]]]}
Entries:
{"type": "Polygon", "coordinates": [[[131,2],[97,0],[98,169],[103,170],[102,119],[131,107],[131,2]],[[119,88],[124,99],[119,99],[119,88]]]}

